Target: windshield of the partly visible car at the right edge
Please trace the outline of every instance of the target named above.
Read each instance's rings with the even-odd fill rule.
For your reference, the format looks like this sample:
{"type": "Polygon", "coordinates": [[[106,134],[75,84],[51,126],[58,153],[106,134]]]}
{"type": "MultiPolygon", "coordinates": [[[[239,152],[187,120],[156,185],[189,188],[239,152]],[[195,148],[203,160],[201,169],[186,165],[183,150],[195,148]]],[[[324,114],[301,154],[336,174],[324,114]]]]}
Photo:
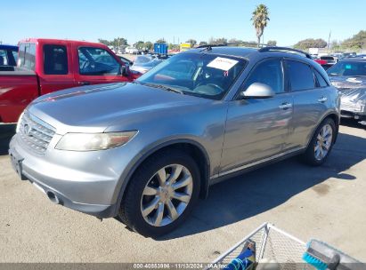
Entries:
{"type": "Polygon", "coordinates": [[[341,61],[327,70],[328,75],[349,75],[362,76],[366,75],[366,61],[341,61]]]}

